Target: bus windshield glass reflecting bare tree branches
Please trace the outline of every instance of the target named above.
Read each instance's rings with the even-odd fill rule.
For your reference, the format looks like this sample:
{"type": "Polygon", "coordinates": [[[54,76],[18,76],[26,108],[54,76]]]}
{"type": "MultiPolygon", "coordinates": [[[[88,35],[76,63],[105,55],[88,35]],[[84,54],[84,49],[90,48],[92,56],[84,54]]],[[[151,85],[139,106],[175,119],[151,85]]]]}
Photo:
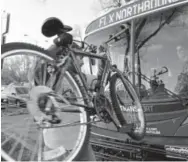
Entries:
{"type": "MultiPolygon", "coordinates": [[[[113,63],[121,70],[127,48],[126,38],[122,42],[124,45],[111,47],[113,63]]],[[[137,20],[135,55],[139,58],[139,61],[136,59],[136,72],[151,78],[165,66],[168,72],[158,76],[159,80],[173,93],[188,96],[188,6],[137,20]]],[[[146,89],[150,88],[149,82],[143,79],[141,82],[146,89]]]]}

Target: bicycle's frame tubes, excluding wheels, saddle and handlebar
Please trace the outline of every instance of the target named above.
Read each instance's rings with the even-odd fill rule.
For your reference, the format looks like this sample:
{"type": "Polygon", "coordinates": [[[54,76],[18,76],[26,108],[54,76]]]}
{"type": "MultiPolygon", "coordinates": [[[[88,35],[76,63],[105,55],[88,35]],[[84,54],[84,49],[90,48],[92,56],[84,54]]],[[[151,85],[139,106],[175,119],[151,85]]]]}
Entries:
{"type": "MultiPolygon", "coordinates": [[[[104,67],[104,70],[102,73],[102,79],[100,81],[100,88],[99,88],[99,91],[97,92],[97,94],[104,94],[104,88],[106,86],[106,83],[108,82],[109,73],[110,73],[110,71],[113,70],[113,67],[111,66],[110,55],[109,55],[109,53],[107,53],[107,55],[106,55],[107,57],[104,57],[104,56],[100,56],[100,55],[96,55],[96,54],[91,54],[89,52],[84,52],[81,50],[75,50],[75,49],[70,48],[68,55],[64,57],[65,60],[67,59],[68,61],[67,62],[65,60],[63,61],[66,63],[63,65],[63,68],[61,68],[61,75],[59,76],[56,86],[58,84],[61,84],[63,75],[70,68],[70,65],[72,65],[73,68],[76,69],[76,73],[79,77],[79,80],[81,80],[81,86],[83,86],[83,88],[84,88],[84,92],[85,92],[84,100],[86,101],[86,104],[77,104],[77,103],[69,103],[69,104],[74,105],[74,106],[84,107],[84,108],[87,108],[88,111],[90,111],[91,109],[92,110],[94,109],[93,101],[92,101],[93,98],[92,98],[92,96],[89,95],[90,94],[89,87],[88,87],[88,85],[84,79],[84,76],[81,72],[81,68],[80,68],[80,65],[78,63],[76,56],[83,56],[83,57],[85,56],[85,57],[96,58],[96,59],[100,59],[100,60],[104,61],[105,67],[104,67]]],[[[62,64],[62,63],[60,63],[60,64],[62,64]]],[[[67,111],[71,111],[71,110],[67,110],[67,111]]]]}

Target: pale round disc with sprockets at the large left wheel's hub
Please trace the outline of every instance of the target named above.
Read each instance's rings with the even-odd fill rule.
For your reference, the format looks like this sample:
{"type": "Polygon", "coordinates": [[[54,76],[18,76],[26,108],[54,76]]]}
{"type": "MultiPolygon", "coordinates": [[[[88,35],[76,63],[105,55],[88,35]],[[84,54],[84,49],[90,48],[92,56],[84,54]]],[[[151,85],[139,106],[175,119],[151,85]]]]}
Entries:
{"type": "Polygon", "coordinates": [[[39,125],[45,122],[48,125],[61,122],[56,113],[58,105],[53,95],[53,90],[46,86],[36,86],[30,91],[30,101],[27,102],[27,108],[39,125]]]}

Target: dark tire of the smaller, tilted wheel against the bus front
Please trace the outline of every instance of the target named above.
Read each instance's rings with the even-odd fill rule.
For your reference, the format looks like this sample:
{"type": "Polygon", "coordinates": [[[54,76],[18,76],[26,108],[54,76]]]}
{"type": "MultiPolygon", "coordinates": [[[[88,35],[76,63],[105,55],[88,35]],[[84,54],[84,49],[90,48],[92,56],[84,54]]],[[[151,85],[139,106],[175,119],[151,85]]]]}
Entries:
{"type": "MultiPolygon", "coordinates": [[[[111,96],[114,112],[121,125],[126,126],[126,124],[130,123],[130,121],[128,121],[127,116],[125,117],[125,115],[127,115],[127,112],[124,113],[121,109],[121,105],[120,105],[121,103],[118,96],[120,93],[118,94],[118,91],[116,90],[116,83],[118,80],[120,80],[122,82],[123,87],[130,92],[129,97],[131,97],[132,100],[134,100],[133,102],[135,103],[136,108],[138,110],[138,113],[136,113],[137,114],[136,118],[138,119],[139,123],[133,123],[133,124],[140,124],[139,132],[137,127],[137,129],[135,128],[131,132],[129,132],[128,135],[134,140],[141,140],[143,139],[146,130],[144,111],[142,109],[142,105],[139,101],[137,93],[135,92],[132,84],[129,82],[127,78],[125,78],[120,73],[114,74],[110,80],[110,96],[111,96]]],[[[126,98],[123,100],[125,101],[126,98]]],[[[133,116],[133,114],[131,115],[133,116]]]]}

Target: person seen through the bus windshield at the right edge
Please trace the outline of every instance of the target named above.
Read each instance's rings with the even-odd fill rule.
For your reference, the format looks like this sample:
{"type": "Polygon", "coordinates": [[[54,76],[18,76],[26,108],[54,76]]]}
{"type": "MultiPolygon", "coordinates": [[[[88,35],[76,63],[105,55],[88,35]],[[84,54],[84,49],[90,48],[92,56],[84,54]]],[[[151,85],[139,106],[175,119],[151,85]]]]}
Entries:
{"type": "Polygon", "coordinates": [[[188,95],[188,51],[182,45],[178,45],[176,51],[183,68],[178,76],[175,91],[179,94],[188,95]]]}

